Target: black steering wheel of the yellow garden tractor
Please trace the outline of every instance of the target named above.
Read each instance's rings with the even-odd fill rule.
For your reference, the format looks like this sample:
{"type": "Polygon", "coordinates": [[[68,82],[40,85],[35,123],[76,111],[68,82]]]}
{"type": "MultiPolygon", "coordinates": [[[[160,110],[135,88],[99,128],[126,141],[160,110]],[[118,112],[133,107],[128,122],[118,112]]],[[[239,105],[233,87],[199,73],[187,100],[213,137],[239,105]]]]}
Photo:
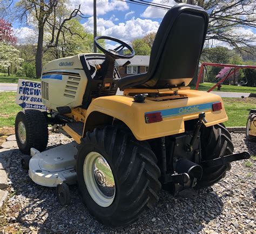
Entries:
{"type": "Polygon", "coordinates": [[[104,54],[106,54],[107,56],[110,56],[113,59],[120,59],[120,58],[129,59],[135,55],[135,51],[132,49],[132,47],[130,45],[128,45],[125,42],[122,42],[122,40],[119,40],[114,37],[98,36],[94,39],[94,42],[99,50],[101,50],[104,54]],[[99,44],[100,39],[112,40],[112,42],[117,42],[120,45],[117,46],[115,49],[106,50],[99,44]],[[120,52],[124,48],[127,48],[130,51],[130,53],[129,54],[120,54],[120,52]]]}

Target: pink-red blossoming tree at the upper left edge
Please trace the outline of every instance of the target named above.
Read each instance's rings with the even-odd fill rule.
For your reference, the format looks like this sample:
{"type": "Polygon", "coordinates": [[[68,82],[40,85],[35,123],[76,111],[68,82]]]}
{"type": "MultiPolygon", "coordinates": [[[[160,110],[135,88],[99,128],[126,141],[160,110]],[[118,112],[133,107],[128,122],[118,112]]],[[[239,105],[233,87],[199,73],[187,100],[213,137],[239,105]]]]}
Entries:
{"type": "Polygon", "coordinates": [[[4,19],[0,19],[0,42],[14,45],[17,43],[17,38],[13,35],[11,24],[4,19]]]}

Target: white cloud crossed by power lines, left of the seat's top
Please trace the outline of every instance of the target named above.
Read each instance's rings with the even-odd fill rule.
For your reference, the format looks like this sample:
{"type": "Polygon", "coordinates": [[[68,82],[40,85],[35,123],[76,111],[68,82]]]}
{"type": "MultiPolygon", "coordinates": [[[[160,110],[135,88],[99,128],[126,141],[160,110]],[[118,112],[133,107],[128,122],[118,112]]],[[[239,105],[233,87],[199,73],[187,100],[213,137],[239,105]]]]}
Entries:
{"type": "MultiPolygon", "coordinates": [[[[177,4],[174,0],[153,0],[152,3],[163,4],[168,6],[174,6],[175,4],[177,4]]],[[[153,8],[151,6],[148,6],[140,16],[145,18],[163,18],[166,12],[167,10],[165,9],[153,8]]]]}

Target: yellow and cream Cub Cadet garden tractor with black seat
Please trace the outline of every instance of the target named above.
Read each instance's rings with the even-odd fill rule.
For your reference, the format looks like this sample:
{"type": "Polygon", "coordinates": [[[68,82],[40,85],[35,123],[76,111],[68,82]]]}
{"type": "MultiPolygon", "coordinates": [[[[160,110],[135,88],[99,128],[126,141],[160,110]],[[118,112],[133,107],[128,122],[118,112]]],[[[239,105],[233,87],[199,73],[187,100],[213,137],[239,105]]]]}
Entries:
{"type": "Polygon", "coordinates": [[[207,25],[199,6],[177,4],[167,11],[146,73],[120,78],[115,61],[129,60],[134,50],[108,36],[95,38],[103,53],[45,65],[41,86],[48,111],[19,112],[15,123],[18,147],[30,154],[22,166],[31,179],[56,187],[61,204],[70,202],[68,185],[78,183],[91,214],[120,226],[153,208],[161,188],[193,194],[221,180],[232,161],[250,158],[232,154],[221,98],[188,87],[207,25]],[[118,46],[107,50],[102,40],[118,46]],[[74,141],[45,150],[49,125],[74,141]]]}

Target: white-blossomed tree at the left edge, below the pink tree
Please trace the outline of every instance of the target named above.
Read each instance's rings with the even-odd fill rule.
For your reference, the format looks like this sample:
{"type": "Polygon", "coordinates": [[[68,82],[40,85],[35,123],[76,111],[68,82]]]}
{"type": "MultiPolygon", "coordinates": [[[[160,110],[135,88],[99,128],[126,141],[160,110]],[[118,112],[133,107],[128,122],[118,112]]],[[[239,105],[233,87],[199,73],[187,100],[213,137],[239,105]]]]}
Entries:
{"type": "Polygon", "coordinates": [[[10,66],[15,68],[21,67],[23,59],[18,56],[19,51],[14,46],[6,43],[0,43],[0,68],[8,69],[8,75],[10,75],[10,66]]]}

